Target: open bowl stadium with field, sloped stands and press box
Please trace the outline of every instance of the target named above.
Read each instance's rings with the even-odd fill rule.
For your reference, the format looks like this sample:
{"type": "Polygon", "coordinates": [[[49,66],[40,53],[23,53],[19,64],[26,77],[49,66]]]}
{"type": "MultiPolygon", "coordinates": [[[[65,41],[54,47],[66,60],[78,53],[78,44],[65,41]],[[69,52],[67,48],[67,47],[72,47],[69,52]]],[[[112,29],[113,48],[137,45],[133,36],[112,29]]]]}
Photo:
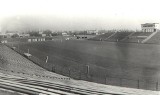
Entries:
{"type": "Polygon", "coordinates": [[[158,95],[160,31],[158,23],[141,27],[82,37],[2,37],[1,93],[158,95]]]}

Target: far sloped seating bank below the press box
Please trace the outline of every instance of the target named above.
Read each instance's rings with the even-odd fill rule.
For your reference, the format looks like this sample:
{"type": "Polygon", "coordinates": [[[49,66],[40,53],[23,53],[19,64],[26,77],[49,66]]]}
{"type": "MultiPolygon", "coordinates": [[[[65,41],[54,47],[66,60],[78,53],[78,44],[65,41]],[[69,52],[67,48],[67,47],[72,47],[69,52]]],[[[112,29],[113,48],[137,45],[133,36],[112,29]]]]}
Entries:
{"type": "Polygon", "coordinates": [[[125,43],[150,43],[159,44],[159,32],[107,32],[89,40],[125,42],[125,43]]]}

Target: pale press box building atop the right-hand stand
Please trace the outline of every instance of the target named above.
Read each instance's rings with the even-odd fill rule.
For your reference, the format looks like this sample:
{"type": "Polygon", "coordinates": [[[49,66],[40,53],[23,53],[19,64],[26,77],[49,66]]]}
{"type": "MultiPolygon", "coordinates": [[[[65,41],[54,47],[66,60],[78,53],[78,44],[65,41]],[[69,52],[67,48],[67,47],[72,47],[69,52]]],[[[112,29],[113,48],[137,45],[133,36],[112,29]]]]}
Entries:
{"type": "Polygon", "coordinates": [[[157,32],[159,27],[159,23],[145,23],[141,24],[141,28],[143,32],[157,32]]]}

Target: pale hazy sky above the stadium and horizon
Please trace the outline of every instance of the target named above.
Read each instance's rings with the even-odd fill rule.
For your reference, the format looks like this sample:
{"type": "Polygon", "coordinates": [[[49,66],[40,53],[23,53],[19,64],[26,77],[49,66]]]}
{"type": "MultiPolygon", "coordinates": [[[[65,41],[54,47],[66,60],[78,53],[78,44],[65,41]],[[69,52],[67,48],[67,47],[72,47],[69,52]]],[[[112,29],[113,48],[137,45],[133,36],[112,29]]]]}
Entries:
{"type": "Polygon", "coordinates": [[[0,31],[141,29],[159,23],[159,0],[0,0],[0,31]]]}

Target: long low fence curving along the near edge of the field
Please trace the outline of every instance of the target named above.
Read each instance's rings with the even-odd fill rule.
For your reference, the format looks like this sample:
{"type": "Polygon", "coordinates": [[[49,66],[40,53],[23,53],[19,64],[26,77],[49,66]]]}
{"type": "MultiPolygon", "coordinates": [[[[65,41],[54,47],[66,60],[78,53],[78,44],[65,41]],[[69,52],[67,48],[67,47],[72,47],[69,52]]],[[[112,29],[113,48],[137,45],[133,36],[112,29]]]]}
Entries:
{"type": "MultiPolygon", "coordinates": [[[[8,47],[12,47],[12,45],[7,44],[8,47]]],[[[24,56],[24,51],[14,48],[16,52],[24,56]]],[[[70,67],[60,66],[54,63],[46,63],[35,56],[27,57],[30,61],[34,62],[35,64],[47,69],[51,72],[55,72],[61,75],[68,76],[70,78],[74,78],[77,80],[86,80],[96,83],[102,83],[107,85],[115,85],[115,86],[122,86],[122,87],[131,87],[137,89],[146,89],[146,90],[160,90],[160,84],[158,81],[151,81],[151,80],[134,80],[129,78],[121,78],[115,76],[109,76],[104,73],[106,70],[94,70],[95,68],[90,65],[75,65],[70,67]],[[97,74],[96,74],[97,73],[97,74]]]]}

